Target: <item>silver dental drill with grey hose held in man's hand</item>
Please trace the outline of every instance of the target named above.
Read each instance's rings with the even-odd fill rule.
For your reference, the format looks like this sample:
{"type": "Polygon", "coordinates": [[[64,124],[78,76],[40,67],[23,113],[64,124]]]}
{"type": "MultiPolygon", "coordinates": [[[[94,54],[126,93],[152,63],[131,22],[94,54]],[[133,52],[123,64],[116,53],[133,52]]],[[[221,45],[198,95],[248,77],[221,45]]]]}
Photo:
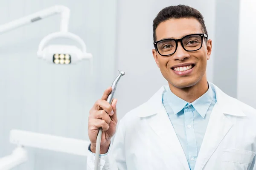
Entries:
{"type": "MultiPolygon", "coordinates": [[[[108,95],[108,98],[107,98],[107,102],[110,105],[112,104],[112,101],[113,101],[113,96],[114,96],[115,91],[116,91],[117,83],[119,82],[119,79],[124,75],[125,75],[124,71],[119,71],[119,75],[116,77],[116,79],[112,83],[112,86],[111,86],[112,91],[108,95]]],[[[99,151],[100,151],[101,138],[102,138],[102,128],[99,128],[99,133],[98,133],[97,139],[96,139],[96,152],[95,152],[94,170],[98,170],[98,167],[99,167],[99,151]]]]}

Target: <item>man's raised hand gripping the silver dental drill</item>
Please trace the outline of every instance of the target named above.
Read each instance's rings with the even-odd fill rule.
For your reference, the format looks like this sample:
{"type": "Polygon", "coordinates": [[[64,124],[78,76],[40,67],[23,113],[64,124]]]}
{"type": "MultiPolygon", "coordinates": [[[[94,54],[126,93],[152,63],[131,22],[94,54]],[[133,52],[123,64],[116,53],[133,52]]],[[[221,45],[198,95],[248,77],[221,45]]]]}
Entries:
{"type": "Polygon", "coordinates": [[[91,142],[90,150],[95,153],[96,139],[99,128],[102,127],[102,139],[100,145],[100,154],[108,152],[112,136],[116,132],[117,116],[116,116],[116,99],[113,99],[110,105],[106,100],[111,93],[112,88],[105,90],[101,99],[97,100],[93,108],[90,109],[88,119],[88,135],[91,142]]]}

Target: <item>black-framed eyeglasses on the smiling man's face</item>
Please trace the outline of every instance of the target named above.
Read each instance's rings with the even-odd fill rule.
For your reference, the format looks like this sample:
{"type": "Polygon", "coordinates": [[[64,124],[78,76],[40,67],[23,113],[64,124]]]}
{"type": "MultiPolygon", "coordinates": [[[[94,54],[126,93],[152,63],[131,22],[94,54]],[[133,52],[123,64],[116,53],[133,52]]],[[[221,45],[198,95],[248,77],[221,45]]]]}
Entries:
{"type": "Polygon", "coordinates": [[[204,37],[207,39],[206,34],[190,34],[180,39],[163,39],[154,42],[154,47],[157,49],[161,56],[169,56],[176,52],[178,42],[186,51],[197,51],[203,45],[204,37]]]}

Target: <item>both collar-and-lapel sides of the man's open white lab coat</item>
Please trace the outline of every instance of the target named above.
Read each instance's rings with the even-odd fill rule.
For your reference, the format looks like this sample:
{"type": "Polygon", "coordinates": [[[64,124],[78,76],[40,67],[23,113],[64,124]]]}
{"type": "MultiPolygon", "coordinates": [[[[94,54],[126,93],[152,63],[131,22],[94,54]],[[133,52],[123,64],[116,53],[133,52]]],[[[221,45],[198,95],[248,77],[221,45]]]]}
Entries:
{"type": "MultiPolygon", "coordinates": [[[[203,169],[230,128],[232,128],[233,122],[230,121],[226,115],[245,116],[239,107],[238,100],[228,96],[214,84],[209,83],[209,85],[211,85],[212,90],[216,94],[217,102],[212,109],[204,140],[195,164],[195,170],[203,169]]],[[[184,170],[189,170],[189,164],[183,152],[183,148],[163,106],[163,92],[165,92],[164,86],[161,87],[148,102],[145,102],[139,107],[140,110],[137,111],[139,116],[145,118],[148,125],[150,125],[152,130],[154,130],[164,142],[166,153],[172,152],[177,158],[177,164],[180,164],[184,170]]]]}

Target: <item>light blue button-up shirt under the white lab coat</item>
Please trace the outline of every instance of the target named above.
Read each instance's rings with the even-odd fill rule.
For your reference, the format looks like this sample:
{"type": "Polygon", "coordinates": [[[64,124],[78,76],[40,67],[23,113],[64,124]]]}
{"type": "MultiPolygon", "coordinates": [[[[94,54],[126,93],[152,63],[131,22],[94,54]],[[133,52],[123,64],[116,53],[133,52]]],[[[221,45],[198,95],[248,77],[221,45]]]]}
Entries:
{"type": "Polygon", "coordinates": [[[163,105],[186,155],[190,170],[195,168],[209,117],[216,103],[215,91],[209,83],[208,86],[208,91],[192,103],[175,96],[169,88],[163,93],[163,105]]]}

